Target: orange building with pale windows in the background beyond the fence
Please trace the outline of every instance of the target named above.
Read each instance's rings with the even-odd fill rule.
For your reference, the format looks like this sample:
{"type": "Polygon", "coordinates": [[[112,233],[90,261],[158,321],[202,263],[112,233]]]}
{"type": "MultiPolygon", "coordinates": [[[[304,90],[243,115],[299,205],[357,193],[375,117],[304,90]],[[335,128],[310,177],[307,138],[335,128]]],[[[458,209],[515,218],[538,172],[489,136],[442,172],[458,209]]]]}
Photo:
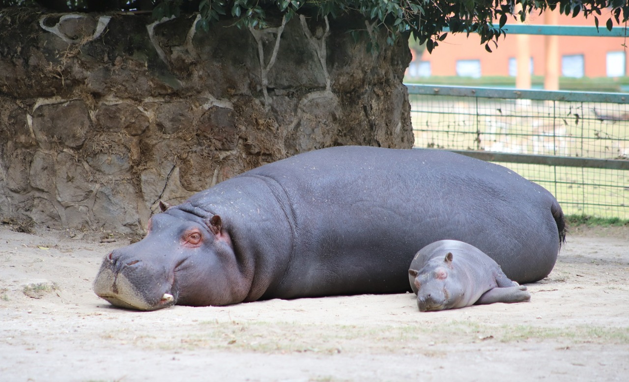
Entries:
{"type": "MultiPolygon", "coordinates": [[[[608,15],[598,16],[599,28],[605,29],[608,15]]],[[[511,19],[508,24],[516,23],[511,19]]],[[[542,25],[543,14],[530,15],[526,23],[542,25]]],[[[560,15],[559,25],[594,26],[594,18],[560,15]]],[[[508,29],[508,25],[504,27],[508,29]]],[[[614,26],[623,28],[623,26],[614,26]]],[[[629,34],[629,31],[627,31],[629,34]]],[[[530,62],[533,75],[545,75],[545,38],[530,35],[530,62]]],[[[559,36],[559,75],[562,77],[623,77],[629,73],[627,49],[629,37],[581,37],[559,36]]],[[[440,41],[432,54],[423,52],[409,66],[409,77],[441,76],[515,76],[516,53],[518,52],[517,35],[501,36],[498,47],[490,43],[493,52],[485,50],[478,35],[472,33],[469,38],[465,33],[448,35],[440,41]]]]}

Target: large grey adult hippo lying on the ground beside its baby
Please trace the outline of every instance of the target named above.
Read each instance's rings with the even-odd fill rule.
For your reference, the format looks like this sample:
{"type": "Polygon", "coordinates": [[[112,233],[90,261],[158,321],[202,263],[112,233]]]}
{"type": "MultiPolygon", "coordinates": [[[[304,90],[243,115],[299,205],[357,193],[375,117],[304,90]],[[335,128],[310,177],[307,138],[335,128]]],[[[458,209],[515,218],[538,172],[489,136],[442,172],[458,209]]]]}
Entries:
{"type": "Polygon", "coordinates": [[[113,305],[228,305],[409,290],[419,248],[465,241],[520,283],[552,270],[564,217],[544,188],[448,151],[342,146],[268,165],[164,208],[105,256],[113,305]]]}

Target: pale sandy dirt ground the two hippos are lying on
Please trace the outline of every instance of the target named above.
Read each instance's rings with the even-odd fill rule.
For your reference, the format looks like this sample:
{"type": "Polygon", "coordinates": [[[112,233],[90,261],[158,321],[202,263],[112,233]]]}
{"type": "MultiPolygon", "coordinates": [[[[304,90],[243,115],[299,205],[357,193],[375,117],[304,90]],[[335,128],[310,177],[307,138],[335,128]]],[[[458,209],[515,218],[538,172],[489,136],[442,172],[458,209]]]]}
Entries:
{"type": "Polygon", "coordinates": [[[428,313],[412,293],[113,308],[92,280],[128,241],[100,238],[0,227],[0,381],[629,376],[629,227],[573,229],[531,302],[428,313]]]}

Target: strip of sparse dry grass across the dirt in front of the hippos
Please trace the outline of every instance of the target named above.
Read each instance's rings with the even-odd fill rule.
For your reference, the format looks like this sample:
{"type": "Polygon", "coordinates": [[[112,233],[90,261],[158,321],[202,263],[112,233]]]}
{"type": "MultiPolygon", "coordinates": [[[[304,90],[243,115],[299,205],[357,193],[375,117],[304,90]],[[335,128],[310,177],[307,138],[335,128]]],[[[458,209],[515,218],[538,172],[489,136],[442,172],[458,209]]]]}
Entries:
{"type": "Polygon", "coordinates": [[[155,338],[148,347],[166,351],[261,353],[417,353],[445,356],[435,345],[486,341],[562,340],[573,343],[629,344],[629,327],[538,327],[487,325],[475,321],[418,322],[408,325],[332,325],[289,322],[209,322],[179,338],[155,338]]]}

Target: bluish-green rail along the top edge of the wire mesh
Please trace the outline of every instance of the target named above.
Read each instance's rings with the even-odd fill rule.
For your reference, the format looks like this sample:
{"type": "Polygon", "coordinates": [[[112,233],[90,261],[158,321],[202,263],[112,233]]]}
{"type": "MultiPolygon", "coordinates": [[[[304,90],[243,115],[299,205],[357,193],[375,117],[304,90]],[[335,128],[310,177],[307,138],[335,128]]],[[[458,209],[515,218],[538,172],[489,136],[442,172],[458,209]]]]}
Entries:
{"type": "Polygon", "coordinates": [[[571,92],[562,90],[496,89],[493,87],[412,85],[406,84],[408,94],[448,95],[450,97],[481,97],[531,99],[533,101],[610,102],[629,103],[629,93],[571,92]]]}

